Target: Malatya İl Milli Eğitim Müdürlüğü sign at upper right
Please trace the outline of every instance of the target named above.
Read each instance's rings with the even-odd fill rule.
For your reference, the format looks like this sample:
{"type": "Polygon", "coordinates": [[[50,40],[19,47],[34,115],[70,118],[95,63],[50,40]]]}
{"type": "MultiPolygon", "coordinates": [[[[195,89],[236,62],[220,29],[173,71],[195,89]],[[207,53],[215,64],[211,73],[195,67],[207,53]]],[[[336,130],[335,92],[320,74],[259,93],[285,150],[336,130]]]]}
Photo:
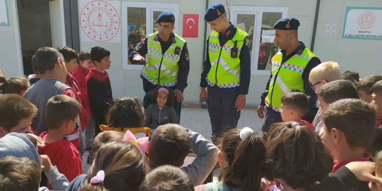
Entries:
{"type": "Polygon", "coordinates": [[[342,38],[382,40],[382,8],[346,7],[342,38]]]}

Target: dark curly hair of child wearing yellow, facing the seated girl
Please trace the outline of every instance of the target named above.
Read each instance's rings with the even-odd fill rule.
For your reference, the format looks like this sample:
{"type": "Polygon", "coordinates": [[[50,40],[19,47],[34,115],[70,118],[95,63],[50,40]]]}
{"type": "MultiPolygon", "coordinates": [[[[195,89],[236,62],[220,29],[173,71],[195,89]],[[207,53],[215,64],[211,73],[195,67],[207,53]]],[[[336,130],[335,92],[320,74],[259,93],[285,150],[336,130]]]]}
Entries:
{"type": "Polygon", "coordinates": [[[107,125],[124,128],[143,127],[144,114],[139,105],[138,97],[118,98],[110,108],[107,116],[107,125]]]}

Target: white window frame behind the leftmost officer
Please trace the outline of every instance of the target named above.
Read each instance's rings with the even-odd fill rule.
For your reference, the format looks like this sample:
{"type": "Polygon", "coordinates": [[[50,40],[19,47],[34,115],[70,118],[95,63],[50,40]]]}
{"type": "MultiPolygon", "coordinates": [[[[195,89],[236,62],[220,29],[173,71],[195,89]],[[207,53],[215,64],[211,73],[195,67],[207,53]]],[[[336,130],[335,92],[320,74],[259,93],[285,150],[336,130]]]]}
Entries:
{"type": "MultiPolygon", "coordinates": [[[[149,34],[152,34],[153,23],[154,23],[154,11],[172,11],[175,16],[175,29],[174,32],[178,33],[178,23],[179,23],[179,4],[177,3],[147,3],[147,2],[121,2],[122,9],[122,69],[123,70],[142,70],[144,66],[142,65],[129,65],[128,64],[128,7],[136,7],[136,8],[146,8],[146,37],[149,34]]],[[[146,56],[147,58],[147,56],[146,56]]]]}

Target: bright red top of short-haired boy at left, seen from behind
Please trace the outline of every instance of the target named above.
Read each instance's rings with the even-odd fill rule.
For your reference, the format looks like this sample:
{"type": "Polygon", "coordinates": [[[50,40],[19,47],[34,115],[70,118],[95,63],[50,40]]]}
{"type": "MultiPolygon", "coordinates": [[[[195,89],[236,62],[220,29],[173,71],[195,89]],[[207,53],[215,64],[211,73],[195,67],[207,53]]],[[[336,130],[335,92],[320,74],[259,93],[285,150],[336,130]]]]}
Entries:
{"type": "MultiPolygon", "coordinates": [[[[40,138],[45,141],[48,131],[40,134],[40,138]]],[[[77,148],[66,139],[60,141],[45,143],[44,147],[39,147],[40,155],[48,155],[53,166],[57,166],[58,172],[66,176],[68,181],[72,181],[78,175],[82,174],[81,157],[77,148]]],[[[47,187],[52,189],[47,180],[47,187]]]]}

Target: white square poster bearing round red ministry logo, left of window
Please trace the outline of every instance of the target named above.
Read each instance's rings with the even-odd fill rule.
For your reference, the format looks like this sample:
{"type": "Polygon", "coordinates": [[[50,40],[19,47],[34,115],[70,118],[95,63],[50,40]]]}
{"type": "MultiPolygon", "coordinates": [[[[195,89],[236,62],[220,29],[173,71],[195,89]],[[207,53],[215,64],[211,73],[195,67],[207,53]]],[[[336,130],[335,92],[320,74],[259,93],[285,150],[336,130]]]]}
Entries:
{"type": "Polygon", "coordinates": [[[121,42],[119,1],[79,0],[80,40],[121,42]]]}

